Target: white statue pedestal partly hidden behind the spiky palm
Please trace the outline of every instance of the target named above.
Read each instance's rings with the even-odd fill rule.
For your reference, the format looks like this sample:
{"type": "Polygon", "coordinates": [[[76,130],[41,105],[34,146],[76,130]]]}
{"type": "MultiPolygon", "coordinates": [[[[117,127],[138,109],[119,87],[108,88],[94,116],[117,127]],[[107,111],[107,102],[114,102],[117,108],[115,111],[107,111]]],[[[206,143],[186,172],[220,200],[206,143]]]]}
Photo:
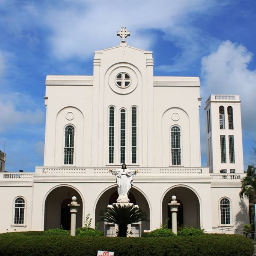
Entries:
{"type": "MultiPolygon", "coordinates": [[[[123,206],[133,206],[133,203],[113,203],[109,204],[107,207],[112,208],[113,205],[116,205],[118,207],[123,207],[123,206]]],[[[138,207],[138,205],[134,205],[135,207],[138,207]]],[[[115,237],[116,236],[116,231],[118,230],[118,225],[105,222],[104,223],[104,235],[108,237],[115,237]]],[[[132,234],[127,235],[127,237],[141,237],[141,222],[133,223],[128,225],[128,233],[132,231],[132,234]]]]}

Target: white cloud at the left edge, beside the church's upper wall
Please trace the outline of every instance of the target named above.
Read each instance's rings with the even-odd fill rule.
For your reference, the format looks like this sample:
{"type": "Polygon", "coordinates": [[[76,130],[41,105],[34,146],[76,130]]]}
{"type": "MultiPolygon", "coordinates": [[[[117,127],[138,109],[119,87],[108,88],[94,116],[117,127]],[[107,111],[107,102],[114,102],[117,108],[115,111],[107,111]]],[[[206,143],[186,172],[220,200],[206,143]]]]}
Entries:
{"type": "Polygon", "coordinates": [[[44,112],[34,100],[20,92],[0,95],[0,131],[15,128],[17,124],[42,124],[44,112]]]}

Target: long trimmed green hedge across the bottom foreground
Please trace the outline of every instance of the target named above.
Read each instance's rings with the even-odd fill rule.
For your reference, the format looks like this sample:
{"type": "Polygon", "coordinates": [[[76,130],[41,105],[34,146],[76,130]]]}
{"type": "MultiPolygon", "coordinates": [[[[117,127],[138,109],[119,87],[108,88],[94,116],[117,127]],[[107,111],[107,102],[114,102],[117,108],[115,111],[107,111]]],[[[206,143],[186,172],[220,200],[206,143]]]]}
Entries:
{"type": "Polygon", "coordinates": [[[191,237],[106,238],[52,235],[27,232],[0,234],[4,256],[93,256],[98,250],[115,256],[251,256],[254,246],[240,235],[205,234],[191,237]]]}

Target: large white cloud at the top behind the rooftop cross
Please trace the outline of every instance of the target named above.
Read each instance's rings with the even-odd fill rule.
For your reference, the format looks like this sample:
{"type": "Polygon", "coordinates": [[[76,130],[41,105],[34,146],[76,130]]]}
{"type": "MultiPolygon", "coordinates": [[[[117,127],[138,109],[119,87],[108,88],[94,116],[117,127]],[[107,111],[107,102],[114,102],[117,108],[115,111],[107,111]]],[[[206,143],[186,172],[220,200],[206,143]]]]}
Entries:
{"type": "Polygon", "coordinates": [[[180,70],[185,68],[185,58],[198,56],[204,41],[203,34],[191,26],[193,17],[218,5],[203,0],[131,0],[125,5],[120,1],[76,1],[71,5],[66,1],[64,6],[48,8],[43,17],[51,31],[48,39],[52,52],[60,59],[91,58],[95,49],[119,44],[115,31],[126,26],[131,31],[128,44],[149,50],[155,41],[149,30],[164,32],[166,40],[184,51],[176,67],[180,70]]]}

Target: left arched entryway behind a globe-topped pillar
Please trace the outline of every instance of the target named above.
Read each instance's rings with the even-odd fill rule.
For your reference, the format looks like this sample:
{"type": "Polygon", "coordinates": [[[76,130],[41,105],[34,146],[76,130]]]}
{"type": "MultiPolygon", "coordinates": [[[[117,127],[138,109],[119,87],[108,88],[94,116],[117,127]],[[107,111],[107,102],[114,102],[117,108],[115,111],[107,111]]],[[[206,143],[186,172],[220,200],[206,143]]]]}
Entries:
{"type": "Polygon", "coordinates": [[[44,207],[44,230],[63,228],[70,230],[70,208],[68,204],[72,197],[76,196],[80,204],[76,216],[76,226],[82,226],[82,198],[78,191],[68,186],[57,187],[52,190],[45,201],[44,207]]]}

